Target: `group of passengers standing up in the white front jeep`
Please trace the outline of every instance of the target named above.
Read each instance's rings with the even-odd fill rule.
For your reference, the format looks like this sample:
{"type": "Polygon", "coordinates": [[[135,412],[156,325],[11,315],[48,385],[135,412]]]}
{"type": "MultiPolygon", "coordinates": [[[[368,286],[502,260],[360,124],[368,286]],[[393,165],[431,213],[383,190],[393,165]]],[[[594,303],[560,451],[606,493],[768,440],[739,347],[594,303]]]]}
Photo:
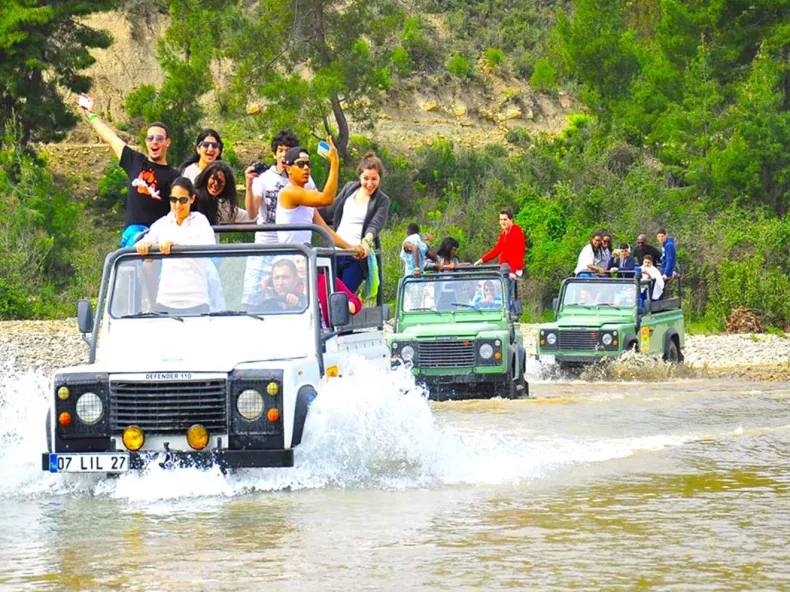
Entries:
{"type": "MultiPolygon", "coordinates": [[[[121,247],[134,246],[145,255],[151,247],[157,246],[167,255],[173,245],[217,242],[211,226],[218,223],[317,224],[332,237],[336,247],[353,252],[353,256],[338,257],[335,289],[349,295],[352,314],[359,312],[362,305],[354,293],[368,274],[371,264],[367,259],[372,248],[379,245],[379,233],[389,212],[389,197],[379,187],[384,167],[374,153],[364,155],[357,167],[357,179],[338,192],[340,159],[332,139],[327,138],[330,148],[325,157],[330,165],[329,175],[323,190],[318,191],[310,176],[309,152],[300,146],[291,130],[282,130],[271,143],[274,164],[266,168],[253,163],[244,171],[242,205],[233,171],[222,160],[223,143],[217,131],[202,130],[195,141],[194,154],[176,169],[167,164],[171,138],[165,124],[154,122],[148,126],[146,154],[143,154],[130,148],[99,118],[93,111],[90,97],[81,95],[77,103],[94,131],[118,157],[130,179],[121,247]]],[[[261,231],[255,236],[258,243],[309,243],[311,239],[310,231],[261,231]]],[[[248,265],[245,304],[253,304],[250,295],[255,293],[268,295],[268,300],[273,301],[270,306],[299,306],[304,298],[302,295],[300,299],[297,289],[298,272],[294,261],[299,258],[281,258],[270,269],[256,269],[254,263],[248,265]],[[278,273],[283,277],[278,279],[278,273]]],[[[252,257],[250,262],[263,259],[252,257]]],[[[206,287],[212,283],[212,276],[218,281],[216,269],[208,265],[199,270],[196,262],[190,267],[187,261],[168,261],[161,274],[158,268],[146,270],[146,276],[152,276],[148,279],[156,284],[157,310],[204,312],[220,306],[209,302],[211,290],[206,287]],[[203,287],[198,289],[201,285],[203,287]]],[[[321,284],[318,289],[322,320],[328,324],[326,278],[319,275],[318,283],[321,284]]]]}

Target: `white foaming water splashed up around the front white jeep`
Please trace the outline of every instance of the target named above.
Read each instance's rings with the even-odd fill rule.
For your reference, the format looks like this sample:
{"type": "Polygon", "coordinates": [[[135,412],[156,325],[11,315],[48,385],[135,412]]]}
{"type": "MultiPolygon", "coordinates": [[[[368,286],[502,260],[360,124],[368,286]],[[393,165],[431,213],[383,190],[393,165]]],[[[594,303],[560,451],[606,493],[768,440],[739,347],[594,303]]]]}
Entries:
{"type": "Polygon", "coordinates": [[[14,374],[10,364],[4,367],[0,497],[99,495],[155,503],[325,487],[496,485],[540,478],[569,464],[624,458],[689,441],[671,435],[588,441],[523,427],[508,431],[485,414],[484,423],[452,425],[434,413],[408,371],[389,372],[358,358],[341,369],[340,378],[321,384],[292,468],[223,475],[217,468],[173,471],[153,464],[142,473],[118,478],[50,475],[40,467],[49,381],[40,371],[14,374]]]}

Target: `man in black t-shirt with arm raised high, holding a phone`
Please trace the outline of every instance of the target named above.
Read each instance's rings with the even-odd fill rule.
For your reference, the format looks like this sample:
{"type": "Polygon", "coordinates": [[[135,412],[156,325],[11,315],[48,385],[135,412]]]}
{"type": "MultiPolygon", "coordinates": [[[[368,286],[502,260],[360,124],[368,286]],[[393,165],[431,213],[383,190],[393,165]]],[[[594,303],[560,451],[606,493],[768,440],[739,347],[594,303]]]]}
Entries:
{"type": "Polygon", "coordinates": [[[110,126],[93,113],[90,97],[80,95],[77,104],[94,131],[112,148],[121,168],[129,176],[126,224],[121,236],[121,247],[131,247],[137,234],[170,212],[170,185],[180,175],[176,169],[167,165],[167,148],[170,146],[167,126],[155,122],[148,127],[145,138],[148,154],[145,155],[129,148],[110,126]]]}

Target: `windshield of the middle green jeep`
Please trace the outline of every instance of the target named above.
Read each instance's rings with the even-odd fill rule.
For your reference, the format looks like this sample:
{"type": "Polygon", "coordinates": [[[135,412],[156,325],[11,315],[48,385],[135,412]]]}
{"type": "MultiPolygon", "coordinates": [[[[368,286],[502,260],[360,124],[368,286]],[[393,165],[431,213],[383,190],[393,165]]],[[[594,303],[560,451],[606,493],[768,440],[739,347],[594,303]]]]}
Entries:
{"type": "Polygon", "coordinates": [[[421,279],[403,287],[403,312],[455,312],[503,308],[502,280],[421,279]]]}

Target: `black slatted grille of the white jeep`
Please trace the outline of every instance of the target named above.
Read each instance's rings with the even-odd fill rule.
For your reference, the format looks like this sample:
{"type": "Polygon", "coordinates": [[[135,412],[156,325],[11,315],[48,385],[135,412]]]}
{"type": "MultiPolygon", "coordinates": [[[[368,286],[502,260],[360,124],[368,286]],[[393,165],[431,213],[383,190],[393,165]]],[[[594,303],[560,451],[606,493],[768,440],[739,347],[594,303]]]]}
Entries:
{"type": "Polygon", "coordinates": [[[185,433],[196,423],[227,431],[225,380],[110,382],[113,431],[136,425],[144,432],[185,433]]]}

